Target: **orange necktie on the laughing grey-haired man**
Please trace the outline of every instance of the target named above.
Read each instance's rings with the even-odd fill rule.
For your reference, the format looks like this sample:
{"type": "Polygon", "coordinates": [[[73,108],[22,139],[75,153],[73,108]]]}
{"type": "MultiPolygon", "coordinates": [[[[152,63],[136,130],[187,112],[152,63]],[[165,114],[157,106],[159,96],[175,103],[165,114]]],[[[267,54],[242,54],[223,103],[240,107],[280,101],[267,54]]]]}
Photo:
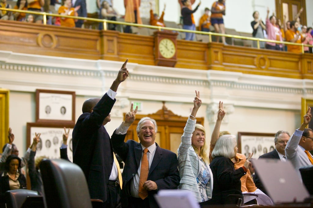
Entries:
{"type": "Polygon", "coordinates": [[[145,148],[143,150],[143,155],[142,155],[142,158],[141,158],[141,168],[140,168],[140,178],[139,178],[139,192],[138,192],[138,196],[141,199],[145,199],[148,196],[148,191],[143,187],[143,183],[147,181],[148,173],[149,173],[149,163],[148,163],[147,152],[148,152],[148,149],[145,148]]]}

